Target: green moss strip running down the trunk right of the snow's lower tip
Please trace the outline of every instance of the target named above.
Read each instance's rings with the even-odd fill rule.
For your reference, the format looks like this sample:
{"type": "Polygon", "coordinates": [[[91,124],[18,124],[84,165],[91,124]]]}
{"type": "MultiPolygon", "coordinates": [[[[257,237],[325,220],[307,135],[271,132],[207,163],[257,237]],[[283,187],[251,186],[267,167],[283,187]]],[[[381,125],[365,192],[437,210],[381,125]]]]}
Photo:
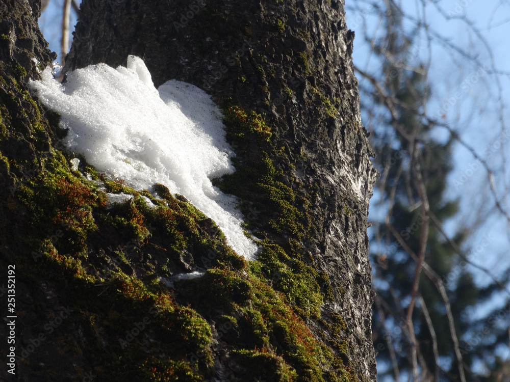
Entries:
{"type": "MultiPolygon", "coordinates": [[[[291,92],[287,93],[292,94],[291,92]]],[[[336,110],[327,98],[321,97],[318,90],[313,94],[316,95],[315,101],[321,111],[329,112],[330,116],[335,115],[336,110]]],[[[231,100],[228,102],[227,106],[232,105],[231,100]]],[[[223,109],[225,110],[225,106],[223,109]]],[[[227,131],[238,131],[238,123],[236,119],[226,119],[227,131]]],[[[268,121],[267,124],[269,123],[268,121]]],[[[304,325],[297,323],[302,321],[296,319],[298,316],[305,319],[319,317],[325,299],[335,299],[328,275],[324,271],[317,271],[311,254],[302,248],[302,242],[314,237],[314,230],[317,229],[310,222],[308,208],[322,203],[321,200],[328,196],[321,192],[318,184],[312,184],[308,189],[301,188],[302,184],[293,178],[294,163],[290,160],[291,153],[285,147],[276,148],[272,141],[256,140],[248,134],[228,134],[227,138],[235,145],[238,154],[233,161],[236,172],[214,180],[214,184],[223,192],[240,198],[240,209],[246,217],[246,227],[253,230],[254,235],[263,241],[259,242],[262,250],[257,261],[249,263],[248,284],[251,285],[249,294],[252,296],[249,299],[250,308],[243,306],[249,304],[248,301],[230,307],[225,304],[223,307],[226,306],[227,310],[223,308],[221,312],[215,313],[231,317],[231,321],[221,321],[231,322],[233,328],[225,333],[223,338],[234,341],[238,347],[244,349],[257,346],[260,351],[267,346],[269,353],[274,351],[282,355],[284,361],[296,370],[299,380],[357,380],[355,372],[343,364],[343,360],[347,360],[345,354],[348,353],[349,345],[342,317],[327,318],[331,324],[326,328],[329,333],[335,333],[335,339],[324,335],[323,341],[327,345],[323,346],[314,342],[315,339],[310,342],[305,340],[313,336],[304,325]],[[271,237],[285,239],[276,244],[270,240],[271,237]],[[266,287],[272,293],[276,291],[277,301],[269,292],[262,292],[266,287]],[[291,306],[294,318],[284,314],[286,318],[282,320],[282,316],[277,313],[278,307],[282,306],[280,304],[291,306]],[[257,311],[263,315],[262,320],[255,313],[257,311]],[[239,312],[243,312],[242,315],[239,315],[239,312]],[[291,322],[293,323],[290,324],[291,322]],[[296,333],[300,335],[296,336],[296,333]],[[340,336],[337,336],[337,333],[340,333],[340,336]],[[335,352],[341,352],[343,358],[335,355],[335,352]]],[[[302,152],[292,155],[302,163],[307,162],[302,152]]],[[[342,293],[342,290],[340,292],[342,293]]],[[[214,298],[202,294],[200,301],[214,298]]],[[[196,304],[199,305],[198,302],[196,304]]],[[[220,303],[216,302],[215,306],[220,306],[220,303]]],[[[217,320],[210,311],[200,313],[217,320]]]]}

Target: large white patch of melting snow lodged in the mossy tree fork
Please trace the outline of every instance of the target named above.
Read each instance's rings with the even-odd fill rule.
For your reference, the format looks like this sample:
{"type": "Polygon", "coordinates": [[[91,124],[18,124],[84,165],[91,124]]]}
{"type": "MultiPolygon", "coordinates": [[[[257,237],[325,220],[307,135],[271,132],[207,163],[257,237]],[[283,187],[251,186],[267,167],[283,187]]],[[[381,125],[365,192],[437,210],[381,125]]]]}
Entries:
{"type": "Polygon", "coordinates": [[[67,73],[65,84],[50,68],[42,78],[30,87],[62,115],[61,127],[69,129],[63,143],[72,152],[135,189],[165,184],[211,217],[235,251],[254,257],[257,246],[243,234],[236,199],[210,181],[234,168],[221,112],[207,93],[176,80],[156,90],[133,56],[127,68],[99,64],[67,73]]]}

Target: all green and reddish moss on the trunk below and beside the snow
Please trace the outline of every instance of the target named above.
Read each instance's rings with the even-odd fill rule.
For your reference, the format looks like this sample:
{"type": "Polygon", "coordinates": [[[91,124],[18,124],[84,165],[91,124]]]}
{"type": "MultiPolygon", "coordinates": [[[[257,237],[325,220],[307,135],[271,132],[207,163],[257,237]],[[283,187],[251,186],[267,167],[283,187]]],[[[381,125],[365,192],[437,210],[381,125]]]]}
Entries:
{"type": "MultiPolygon", "coordinates": [[[[286,92],[290,96],[290,89],[286,92]]],[[[59,115],[42,113],[29,95],[23,102],[34,139],[49,142],[52,131],[57,137],[65,133],[58,129],[59,115]]],[[[60,303],[77,309],[69,327],[83,330],[87,341],[75,346],[94,365],[98,381],[209,379],[213,331],[208,322],[213,321],[230,324],[222,340],[248,378],[317,382],[340,380],[333,378],[345,372],[303,322],[320,314],[330,288],[327,275],[315,270],[299,243],[309,234],[307,191],[286,175],[294,163],[285,148],[272,146],[270,122],[230,107],[225,113],[229,139],[250,156],[236,161],[231,178],[218,182],[246,197],[242,208],[252,215],[250,229],[288,238],[279,245],[266,239],[261,257],[249,267],[212,220],[162,185],[155,187],[164,198],[159,201],[98,174],[83,160],[80,168],[108,192],[134,196],[107,210],[105,193],[70,171],[69,158],[54,148],[41,155],[34,177],[17,184],[13,202],[26,208],[27,219],[16,241],[36,255],[24,259],[25,281],[37,280],[35,295],[43,280],[58,291],[60,303]],[[141,195],[158,207],[149,209],[141,195]],[[175,283],[175,293],[158,282],[160,275],[197,265],[210,269],[201,278],[175,283]],[[150,322],[133,335],[146,318],[150,322]]],[[[8,111],[0,110],[7,119],[8,111]]]]}

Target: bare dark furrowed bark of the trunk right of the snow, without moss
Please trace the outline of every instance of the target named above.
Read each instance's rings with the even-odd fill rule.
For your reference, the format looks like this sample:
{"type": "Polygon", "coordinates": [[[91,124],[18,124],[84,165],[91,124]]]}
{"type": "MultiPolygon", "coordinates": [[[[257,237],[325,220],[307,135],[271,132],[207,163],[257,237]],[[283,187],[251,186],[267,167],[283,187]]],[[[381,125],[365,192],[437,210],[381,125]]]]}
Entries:
{"type": "MultiPolygon", "coordinates": [[[[3,14],[5,24],[8,18],[3,14]]],[[[35,19],[30,19],[37,30],[35,19]]],[[[292,190],[289,206],[274,216],[261,212],[264,203],[252,191],[260,189],[259,184],[249,176],[230,190],[241,198],[243,212],[252,212],[247,219],[258,237],[285,249],[289,264],[299,260],[330,281],[332,290],[329,282],[321,285],[320,317],[300,316],[350,378],[375,381],[366,229],[377,171],[361,123],[352,38],[343,3],[336,0],[84,0],[65,71],[101,62],[116,67],[134,54],[145,61],[156,86],[176,78],[209,92],[224,111],[241,110],[246,116],[253,112],[253,118],[263,118],[272,134],[269,141],[231,137],[235,165],[241,173],[269,160],[274,183],[292,190]],[[285,216],[289,210],[294,214],[285,216]],[[275,226],[275,221],[283,223],[275,226]]],[[[50,56],[40,34],[30,41],[39,49],[32,56],[47,65],[50,56]]],[[[23,63],[30,66],[30,57],[23,63]]],[[[30,74],[37,77],[35,71],[30,74]]],[[[4,150],[7,158],[14,155],[4,150]]],[[[45,150],[49,148],[32,156],[40,157],[45,150]]],[[[1,180],[8,184],[10,176],[2,171],[1,180]]],[[[226,190],[228,184],[218,180],[226,190]]],[[[107,247],[108,242],[103,244],[107,247]]],[[[200,306],[191,307],[200,311],[200,306]]],[[[209,318],[206,315],[214,335],[218,325],[209,318]]],[[[74,341],[81,346],[77,338],[74,341]]],[[[232,344],[218,343],[210,378],[230,375],[229,380],[245,380],[248,374],[242,365],[232,361],[232,344]]],[[[74,362],[83,369],[98,365],[97,360],[82,358],[74,362]]],[[[27,366],[32,378],[33,368],[27,366]]],[[[343,375],[338,370],[330,367],[326,379],[343,375]]],[[[323,380],[299,370],[297,378],[323,380]]]]}

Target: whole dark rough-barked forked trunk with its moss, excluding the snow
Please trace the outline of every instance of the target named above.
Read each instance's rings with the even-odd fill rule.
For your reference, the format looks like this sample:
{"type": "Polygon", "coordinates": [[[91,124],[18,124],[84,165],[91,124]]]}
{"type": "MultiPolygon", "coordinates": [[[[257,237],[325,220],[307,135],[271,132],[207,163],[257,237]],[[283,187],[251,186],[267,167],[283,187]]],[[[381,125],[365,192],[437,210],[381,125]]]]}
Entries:
{"type": "MultiPolygon", "coordinates": [[[[3,49],[0,74],[5,79],[2,116],[8,132],[4,137],[18,138],[16,142],[14,138],[9,141],[2,138],[1,154],[6,159],[0,161],[0,181],[3,187],[10,186],[11,191],[2,189],[5,195],[0,212],[4,212],[0,217],[3,226],[9,220],[19,223],[2,237],[1,268],[4,272],[9,261],[17,261],[30,272],[35,268],[32,258],[43,259],[44,274],[20,279],[20,293],[27,298],[20,302],[24,312],[20,320],[25,328],[35,329],[21,335],[19,346],[28,348],[39,332],[48,335],[30,352],[30,357],[20,360],[18,380],[42,380],[41,376],[81,380],[86,372],[98,375],[96,380],[117,380],[109,373],[122,380],[121,371],[114,373],[109,368],[129,371],[125,377],[135,378],[132,380],[151,380],[161,375],[168,380],[175,375],[182,380],[375,380],[366,229],[377,172],[369,159],[372,152],[361,124],[358,83],[350,56],[353,34],[345,25],[343,3],[335,0],[82,3],[66,70],[101,62],[116,67],[134,54],[144,59],[156,86],[177,78],[208,91],[221,105],[227,138],[237,153],[237,172],[216,183],[240,198],[248,228],[265,239],[257,265],[246,264],[232,254],[214,223],[198,212],[186,216],[193,219],[193,227],[198,227],[198,231],[183,223],[185,228],[180,231],[189,237],[179,247],[173,241],[170,244],[170,234],[158,230],[161,216],[149,216],[138,205],[126,207],[131,208],[127,213],[119,210],[106,214],[100,192],[93,185],[70,172],[65,161],[59,162],[64,170],[57,169],[51,159],[63,157],[55,148],[55,135],[60,133],[57,116],[49,114],[48,124],[40,105],[25,104],[20,93],[27,88],[28,76],[37,77],[31,59],[37,58],[46,66],[51,57],[44,49],[45,42],[34,17],[28,14],[29,3],[16,6],[19,15],[12,21],[11,10],[4,9],[8,8],[6,3],[0,2],[0,33],[9,33],[9,41],[0,41],[3,49]],[[9,22],[14,26],[9,26],[9,22]],[[23,73],[18,65],[28,73],[23,73]],[[26,75],[11,76],[16,68],[20,75],[26,75]],[[20,122],[23,126],[16,131],[23,128],[27,131],[16,134],[12,132],[13,125],[6,123],[6,115],[11,116],[9,123],[14,124],[12,116],[28,114],[23,111],[33,107],[41,110],[39,123],[44,125],[39,129],[42,143],[37,147],[24,144],[26,137],[33,135],[30,131],[34,130],[34,118],[20,122]],[[22,171],[21,158],[25,156],[19,153],[22,147],[32,166],[39,163],[34,167],[35,176],[22,171]],[[53,164],[45,166],[49,162],[53,164]],[[46,185],[47,174],[52,171],[64,174],[55,178],[57,189],[48,185],[39,190],[37,182],[46,185]],[[47,192],[50,196],[44,201],[56,200],[57,207],[47,212],[55,214],[51,222],[56,225],[61,223],[61,214],[55,212],[60,208],[58,198],[68,197],[58,190],[65,187],[72,188],[72,195],[78,193],[84,200],[75,214],[82,216],[84,203],[91,200],[85,210],[95,228],[76,226],[68,219],[65,229],[69,232],[64,230],[63,239],[48,244],[55,227],[46,231],[40,228],[44,220],[37,213],[44,211],[33,207],[36,198],[33,195],[47,192]],[[155,226],[151,235],[142,240],[133,239],[133,232],[122,230],[117,223],[112,226],[112,215],[132,219],[135,212],[141,214],[144,223],[155,226]],[[36,217],[41,222],[37,234],[31,226],[35,225],[36,217]],[[82,234],[80,240],[66,239],[67,235],[78,235],[77,232],[82,234]],[[41,242],[46,243],[44,251],[41,242]],[[126,242],[132,244],[131,250],[126,242]],[[34,252],[34,248],[38,250],[34,252]],[[213,256],[208,255],[211,249],[213,256]],[[127,260],[112,265],[112,259],[118,258],[119,253],[127,260]],[[204,256],[209,260],[204,261],[204,256]],[[79,259],[78,263],[71,264],[72,259],[79,259]],[[164,260],[167,266],[162,268],[164,260]],[[107,268],[111,274],[107,274],[107,268]],[[176,294],[167,295],[145,286],[160,276],[194,269],[209,269],[204,277],[208,279],[203,284],[197,281],[175,285],[176,294]],[[111,276],[115,271],[115,276],[111,276]],[[64,276],[55,281],[48,272],[64,276]],[[126,277],[130,279],[126,281],[126,277]],[[216,288],[220,279],[221,288],[228,285],[228,292],[216,288]],[[140,280],[143,288],[148,288],[143,289],[147,290],[143,292],[145,297],[140,297],[143,294],[140,291],[135,296],[133,280],[140,280]],[[104,286],[109,282],[117,292],[112,291],[115,287],[104,286]],[[291,284],[301,288],[301,294],[293,292],[291,284]],[[103,285],[100,292],[91,287],[96,285],[103,285]],[[205,289],[209,288],[211,294],[203,292],[200,286],[207,286],[205,289]],[[79,298],[59,290],[65,287],[79,291],[79,298]],[[210,306],[208,300],[217,298],[214,293],[225,300],[210,306]],[[171,299],[171,307],[162,308],[163,295],[171,299]],[[311,295],[315,296],[313,301],[311,295]],[[109,301],[118,298],[134,302],[128,304],[129,308],[116,303],[109,308],[109,301]],[[99,300],[99,305],[104,300],[104,309],[95,306],[92,300],[99,300]],[[78,313],[62,324],[62,328],[69,326],[65,331],[59,326],[56,334],[49,336],[40,323],[50,321],[67,305],[78,313]],[[136,347],[140,351],[127,351],[122,346],[119,349],[119,336],[125,337],[124,331],[130,331],[134,323],[144,318],[139,305],[145,307],[145,312],[157,307],[159,316],[151,316],[157,322],[144,332],[145,342],[140,337],[135,342],[141,343],[131,344],[130,349],[136,347]],[[164,309],[166,315],[161,313],[164,309]],[[122,315],[128,315],[131,321],[119,323],[117,328],[111,321],[122,315]],[[183,316],[196,319],[188,322],[183,316]],[[284,325],[283,321],[292,324],[284,325]],[[177,328],[175,333],[171,332],[171,336],[176,336],[194,328],[192,324],[197,329],[193,335],[182,335],[175,344],[177,349],[168,349],[161,343],[175,341],[162,337],[161,325],[177,328]],[[311,334],[305,333],[307,328],[311,334]],[[195,335],[199,331],[203,335],[195,335]],[[62,357],[68,366],[64,367],[63,361],[53,356],[59,351],[65,353],[62,357]]],[[[68,153],[63,155],[69,159],[68,153]]],[[[114,182],[102,180],[115,188],[114,182]]],[[[118,185],[124,192],[130,192],[122,187],[118,185]]],[[[172,206],[180,211],[183,206],[192,209],[185,200],[171,195],[167,201],[167,209],[172,206]]],[[[139,287],[136,290],[141,290],[136,285],[139,287]]]]}

